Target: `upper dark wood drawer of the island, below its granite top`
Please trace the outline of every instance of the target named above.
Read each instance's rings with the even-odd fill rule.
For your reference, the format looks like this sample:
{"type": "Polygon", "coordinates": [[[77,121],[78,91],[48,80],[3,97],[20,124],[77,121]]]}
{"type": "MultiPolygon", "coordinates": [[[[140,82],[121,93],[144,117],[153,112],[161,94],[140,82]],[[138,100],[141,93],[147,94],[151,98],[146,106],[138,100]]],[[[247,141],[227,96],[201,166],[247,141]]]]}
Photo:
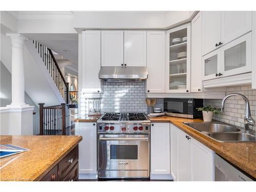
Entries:
{"type": "Polygon", "coordinates": [[[59,181],[62,181],[78,162],[78,145],[59,162],[59,181]]]}

